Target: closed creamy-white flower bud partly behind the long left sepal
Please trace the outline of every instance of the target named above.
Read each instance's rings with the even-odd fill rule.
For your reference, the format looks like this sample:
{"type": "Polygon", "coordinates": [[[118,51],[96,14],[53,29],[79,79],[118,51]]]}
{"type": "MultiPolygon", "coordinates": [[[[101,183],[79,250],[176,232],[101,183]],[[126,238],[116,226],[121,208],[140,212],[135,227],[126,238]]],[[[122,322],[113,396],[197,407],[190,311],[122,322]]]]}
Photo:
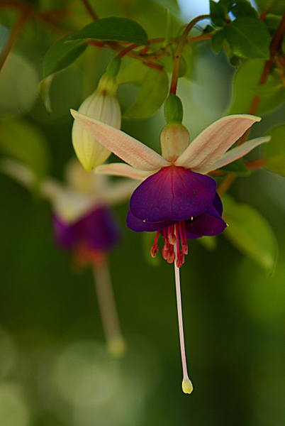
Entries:
{"type": "MultiPolygon", "coordinates": [[[[121,108],[115,95],[116,89],[116,78],[104,75],[95,92],[82,102],[79,112],[120,129],[121,108]]],[[[92,138],[77,120],[74,120],[72,127],[72,143],[77,158],[88,172],[103,163],[111,154],[111,151],[92,138]]]]}

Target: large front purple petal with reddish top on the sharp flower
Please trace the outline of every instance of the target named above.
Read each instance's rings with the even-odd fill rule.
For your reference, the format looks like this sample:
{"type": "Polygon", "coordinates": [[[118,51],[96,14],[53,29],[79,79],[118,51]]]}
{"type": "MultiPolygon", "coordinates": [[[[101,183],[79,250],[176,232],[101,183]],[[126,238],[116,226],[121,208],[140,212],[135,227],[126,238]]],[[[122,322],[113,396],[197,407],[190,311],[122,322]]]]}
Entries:
{"type": "Polygon", "coordinates": [[[137,187],[130,198],[130,211],[145,222],[190,219],[203,213],[215,195],[213,178],[171,165],[137,187]]]}

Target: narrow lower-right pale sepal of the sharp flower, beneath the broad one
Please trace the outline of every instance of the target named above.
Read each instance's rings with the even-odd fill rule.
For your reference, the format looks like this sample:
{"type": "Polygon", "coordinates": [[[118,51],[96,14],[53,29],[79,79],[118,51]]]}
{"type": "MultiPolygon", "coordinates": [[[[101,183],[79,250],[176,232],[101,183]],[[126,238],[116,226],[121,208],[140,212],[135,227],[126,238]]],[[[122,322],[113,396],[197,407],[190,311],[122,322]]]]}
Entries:
{"type": "Polygon", "coordinates": [[[216,161],[216,163],[213,163],[208,168],[204,168],[203,165],[201,168],[196,168],[195,171],[198,173],[208,173],[211,172],[211,170],[216,170],[217,168],[223,167],[223,165],[226,165],[228,163],[232,163],[234,160],[238,160],[238,158],[243,157],[243,155],[249,153],[253,148],[256,146],[259,146],[261,143],[269,142],[271,136],[267,136],[264,138],[256,138],[251,139],[250,141],[247,141],[245,143],[242,143],[240,146],[236,146],[233,149],[230,149],[227,153],[225,153],[220,160],[216,161]]]}

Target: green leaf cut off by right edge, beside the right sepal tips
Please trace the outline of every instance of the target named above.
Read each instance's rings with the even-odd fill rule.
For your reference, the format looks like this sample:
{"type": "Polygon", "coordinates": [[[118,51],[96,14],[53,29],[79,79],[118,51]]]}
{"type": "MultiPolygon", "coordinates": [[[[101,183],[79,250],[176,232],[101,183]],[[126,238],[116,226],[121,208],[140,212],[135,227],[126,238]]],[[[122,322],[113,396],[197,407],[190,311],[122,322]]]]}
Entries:
{"type": "Polygon", "coordinates": [[[274,127],[267,134],[272,138],[262,147],[266,168],[285,176],[285,124],[274,127]]]}

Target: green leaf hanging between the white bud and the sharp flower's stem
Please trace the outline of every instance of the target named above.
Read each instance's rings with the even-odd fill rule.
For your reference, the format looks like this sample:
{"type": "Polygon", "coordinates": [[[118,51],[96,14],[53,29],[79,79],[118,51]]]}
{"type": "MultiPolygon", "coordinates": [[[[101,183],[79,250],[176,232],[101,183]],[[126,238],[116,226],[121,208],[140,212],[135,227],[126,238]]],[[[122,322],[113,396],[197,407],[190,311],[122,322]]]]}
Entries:
{"type": "Polygon", "coordinates": [[[168,77],[164,70],[147,70],[135,102],[125,111],[123,119],[146,119],[162,106],[168,93],[168,77]]]}

